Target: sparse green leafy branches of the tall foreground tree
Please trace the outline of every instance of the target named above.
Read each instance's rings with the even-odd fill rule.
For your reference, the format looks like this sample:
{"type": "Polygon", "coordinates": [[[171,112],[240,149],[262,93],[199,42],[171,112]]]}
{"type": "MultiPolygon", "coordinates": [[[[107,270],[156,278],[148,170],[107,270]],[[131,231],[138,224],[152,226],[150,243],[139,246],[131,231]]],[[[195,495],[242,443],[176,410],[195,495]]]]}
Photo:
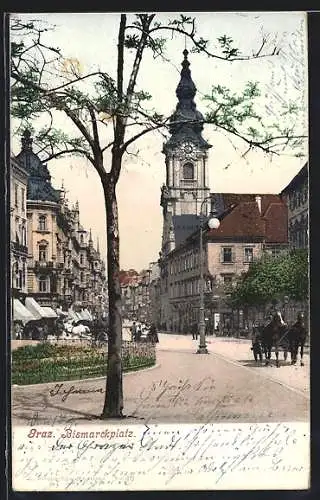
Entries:
{"type": "MultiPolygon", "coordinates": [[[[134,53],[134,60],[137,57],[140,60],[138,56],[140,51],[143,61],[144,53],[142,54],[141,50],[149,50],[154,58],[162,57],[164,61],[168,61],[165,49],[170,35],[185,37],[190,42],[191,52],[206,54],[211,59],[233,61],[268,55],[261,52],[264,44],[256,52],[256,56],[241,55],[233,38],[227,34],[217,37],[213,50],[210,48],[211,42],[198,33],[196,18],[185,14],[180,14],[166,23],[160,20],[161,18],[158,19],[155,14],[136,14],[131,24],[130,17],[128,15],[126,18],[124,48],[134,53]]],[[[43,155],[47,154],[47,158],[51,159],[56,152],[61,156],[62,151],[68,154],[71,150],[72,153],[82,154],[91,160],[101,144],[107,143],[106,148],[112,147],[113,141],[109,138],[111,136],[112,139],[110,125],[114,124],[114,119],[119,116],[125,117],[126,127],[131,125],[145,127],[145,132],[155,127],[160,128],[161,125],[163,127],[168,125],[166,117],[163,117],[161,122],[162,115],[156,109],[150,111],[148,104],[151,95],[145,89],[137,89],[136,83],[130,95],[127,95],[125,86],[123,89],[122,84],[119,87],[119,82],[116,83],[115,79],[103,70],[83,75],[77,60],[64,58],[59,48],[46,44],[45,32],[49,29],[52,28],[44,27],[43,23],[35,21],[24,23],[19,19],[13,19],[11,23],[13,82],[11,112],[14,118],[21,120],[21,125],[25,125],[26,122],[37,122],[43,114],[50,117],[48,125],[35,134],[37,137],[34,144],[43,155]],[[57,133],[57,128],[49,133],[55,125],[56,111],[66,113],[75,126],[75,135],[85,136],[85,139],[77,142],[75,135],[69,133],[67,136],[62,131],[57,133]],[[82,127],[79,127],[79,124],[82,124],[82,127]],[[97,124],[94,146],[90,140],[88,141],[89,135],[91,137],[93,135],[93,124],[97,124]],[[101,124],[109,127],[108,130],[101,127],[101,124]],[[84,134],[84,130],[88,133],[84,134]]],[[[124,61],[126,64],[126,57],[124,61]]],[[[134,67],[133,64],[131,70],[133,72],[134,67]]],[[[116,74],[115,62],[114,75],[116,74]]],[[[132,75],[133,73],[131,77],[132,75]]],[[[120,80],[123,76],[124,74],[120,80]]],[[[131,78],[131,81],[136,82],[136,77],[137,75],[131,78]]],[[[302,156],[303,139],[299,135],[295,136],[300,112],[297,103],[289,101],[279,110],[281,119],[274,120],[273,124],[267,124],[266,120],[262,119],[262,113],[257,111],[262,109],[260,97],[257,82],[249,81],[242,93],[233,92],[219,84],[214,85],[211,94],[204,97],[207,106],[205,122],[212,124],[217,130],[241,138],[247,143],[248,151],[260,148],[266,153],[278,154],[289,146],[296,156],[302,156]]],[[[138,133],[136,135],[139,136],[138,133]]],[[[130,137],[128,139],[130,140],[130,137]]],[[[123,151],[125,149],[123,148],[123,151]]],[[[44,156],[44,161],[47,158],[44,156]]]]}

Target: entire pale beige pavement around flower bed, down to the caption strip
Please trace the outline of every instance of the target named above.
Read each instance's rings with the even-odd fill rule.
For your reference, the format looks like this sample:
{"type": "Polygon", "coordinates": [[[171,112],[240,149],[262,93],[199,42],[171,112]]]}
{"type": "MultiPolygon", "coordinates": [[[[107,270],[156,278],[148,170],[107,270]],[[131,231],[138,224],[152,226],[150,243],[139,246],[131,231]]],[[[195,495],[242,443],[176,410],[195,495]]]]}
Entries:
{"type": "MultiPolygon", "coordinates": [[[[157,366],[124,375],[124,422],[307,421],[306,366],[257,366],[248,341],[197,341],[160,334],[157,366]]],[[[104,379],[13,387],[14,423],[40,425],[96,420],[104,379]],[[60,387],[59,387],[60,386],[60,387]]]]}

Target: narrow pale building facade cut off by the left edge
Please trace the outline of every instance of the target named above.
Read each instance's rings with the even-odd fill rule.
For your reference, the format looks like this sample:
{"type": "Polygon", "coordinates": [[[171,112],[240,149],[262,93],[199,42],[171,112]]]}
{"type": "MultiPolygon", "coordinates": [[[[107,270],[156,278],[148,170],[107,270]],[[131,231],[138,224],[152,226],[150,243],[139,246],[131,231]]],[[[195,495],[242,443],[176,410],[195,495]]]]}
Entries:
{"type": "Polygon", "coordinates": [[[27,295],[27,186],[28,173],[15,158],[10,170],[11,296],[27,295]]]}

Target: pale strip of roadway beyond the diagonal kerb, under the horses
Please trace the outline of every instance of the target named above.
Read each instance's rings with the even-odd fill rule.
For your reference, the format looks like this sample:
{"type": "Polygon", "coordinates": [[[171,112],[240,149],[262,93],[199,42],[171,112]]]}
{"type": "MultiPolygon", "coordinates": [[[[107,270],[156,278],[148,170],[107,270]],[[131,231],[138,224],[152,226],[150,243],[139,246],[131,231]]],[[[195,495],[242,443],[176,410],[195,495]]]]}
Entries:
{"type": "MultiPolygon", "coordinates": [[[[246,339],[236,339],[232,337],[206,337],[206,343],[209,353],[224,358],[232,363],[240,364],[246,369],[256,372],[256,375],[262,375],[282,385],[289,386],[309,395],[310,391],[310,356],[304,354],[303,360],[305,366],[300,366],[298,360],[296,366],[290,364],[290,354],[286,364],[284,364],[283,353],[279,354],[280,368],[274,364],[275,355],[272,353],[273,364],[265,366],[265,363],[256,363],[253,358],[251,341],[246,339]]],[[[196,352],[199,344],[198,340],[192,340],[190,335],[171,335],[159,334],[158,350],[178,350],[196,352]]]]}

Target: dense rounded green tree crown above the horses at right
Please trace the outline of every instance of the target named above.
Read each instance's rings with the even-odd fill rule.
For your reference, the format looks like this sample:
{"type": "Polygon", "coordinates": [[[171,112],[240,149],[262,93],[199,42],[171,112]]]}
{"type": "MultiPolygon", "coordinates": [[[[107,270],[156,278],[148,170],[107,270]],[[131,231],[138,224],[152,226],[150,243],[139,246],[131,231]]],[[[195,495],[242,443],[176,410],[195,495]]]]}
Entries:
{"type": "Polygon", "coordinates": [[[271,257],[266,255],[250,265],[231,294],[235,306],[262,305],[273,299],[308,297],[308,253],[304,249],[271,257]]]}

